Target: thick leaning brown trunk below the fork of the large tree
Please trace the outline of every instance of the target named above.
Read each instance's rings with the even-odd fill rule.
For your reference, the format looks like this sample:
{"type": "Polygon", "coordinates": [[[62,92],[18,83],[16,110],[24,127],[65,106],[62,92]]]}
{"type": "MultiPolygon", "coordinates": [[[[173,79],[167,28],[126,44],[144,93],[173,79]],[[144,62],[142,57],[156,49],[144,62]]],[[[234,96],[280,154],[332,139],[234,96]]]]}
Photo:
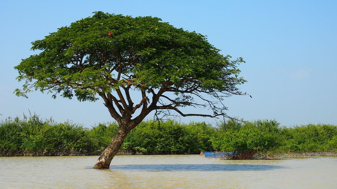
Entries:
{"type": "Polygon", "coordinates": [[[108,169],[110,167],[111,160],[117,154],[130,130],[126,125],[119,125],[116,135],[111,140],[109,146],[101,153],[93,168],[108,169]]]}

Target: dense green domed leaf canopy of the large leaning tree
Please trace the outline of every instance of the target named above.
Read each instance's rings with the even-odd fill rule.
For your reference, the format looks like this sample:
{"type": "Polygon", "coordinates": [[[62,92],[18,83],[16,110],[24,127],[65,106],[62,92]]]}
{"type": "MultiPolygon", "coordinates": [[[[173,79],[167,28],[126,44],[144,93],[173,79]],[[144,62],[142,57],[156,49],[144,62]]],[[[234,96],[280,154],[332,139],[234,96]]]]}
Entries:
{"type": "MultiPolygon", "coordinates": [[[[231,61],[205,36],[174,28],[157,17],[95,12],[32,45],[33,50],[42,52],[15,67],[18,79],[28,83],[34,79],[35,89],[63,91],[67,98],[75,88],[79,100],[94,101],[96,92],[125,85],[111,72],[118,64],[123,64],[121,74],[134,75],[132,82],[137,87],[160,88],[165,81],[183,85],[181,78],[199,78],[203,90],[228,91],[228,84],[234,87],[245,82],[236,77],[240,72],[236,64],[242,59],[231,61]],[[235,82],[225,83],[232,74],[235,82]],[[116,82],[111,83],[110,78],[116,82]]],[[[17,95],[30,91],[28,83],[17,95]]]]}

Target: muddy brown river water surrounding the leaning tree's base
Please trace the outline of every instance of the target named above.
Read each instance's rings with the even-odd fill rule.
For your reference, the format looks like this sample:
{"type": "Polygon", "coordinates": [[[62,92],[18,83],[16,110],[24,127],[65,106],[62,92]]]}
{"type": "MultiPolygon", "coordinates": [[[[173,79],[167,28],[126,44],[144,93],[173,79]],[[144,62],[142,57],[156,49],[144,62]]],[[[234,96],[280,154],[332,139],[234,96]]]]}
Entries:
{"type": "Polygon", "coordinates": [[[200,155],[0,157],[0,188],[337,188],[337,157],[221,160],[200,155]]]}

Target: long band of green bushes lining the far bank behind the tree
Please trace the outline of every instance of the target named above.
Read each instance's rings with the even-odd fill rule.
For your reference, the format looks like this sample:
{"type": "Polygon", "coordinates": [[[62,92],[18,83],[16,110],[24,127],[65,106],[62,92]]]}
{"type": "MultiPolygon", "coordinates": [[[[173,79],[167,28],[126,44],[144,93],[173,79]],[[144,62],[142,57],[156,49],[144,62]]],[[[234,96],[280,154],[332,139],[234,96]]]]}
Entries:
{"type": "MultiPolygon", "coordinates": [[[[37,115],[0,123],[0,156],[99,155],[118,129],[116,122],[92,128],[37,115]]],[[[200,151],[337,151],[337,126],[280,126],[276,120],[227,120],[215,125],[143,121],[125,139],[120,154],[198,154],[200,151]]]]}

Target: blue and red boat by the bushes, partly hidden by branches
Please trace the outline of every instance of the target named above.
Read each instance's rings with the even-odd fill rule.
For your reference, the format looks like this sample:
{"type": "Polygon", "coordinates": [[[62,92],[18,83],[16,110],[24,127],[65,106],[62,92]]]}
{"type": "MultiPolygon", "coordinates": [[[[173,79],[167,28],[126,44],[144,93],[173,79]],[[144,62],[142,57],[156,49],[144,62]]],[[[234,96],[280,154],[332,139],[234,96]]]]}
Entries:
{"type": "Polygon", "coordinates": [[[254,151],[231,151],[231,152],[200,152],[200,155],[205,157],[220,158],[220,159],[251,159],[255,154],[254,151]]]}

